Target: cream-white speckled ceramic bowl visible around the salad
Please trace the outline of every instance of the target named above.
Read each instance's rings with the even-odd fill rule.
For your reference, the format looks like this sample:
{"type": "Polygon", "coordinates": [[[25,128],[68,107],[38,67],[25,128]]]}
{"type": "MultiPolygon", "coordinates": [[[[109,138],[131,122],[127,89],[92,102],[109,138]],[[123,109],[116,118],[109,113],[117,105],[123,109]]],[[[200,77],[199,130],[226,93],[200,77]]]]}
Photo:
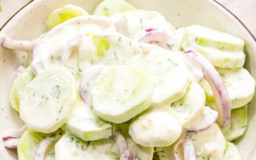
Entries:
{"type": "MultiPolygon", "coordinates": [[[[56,8],[72,3],[83,7],[90,14],[101,0],[34,0],[21,9],[1,29],[9,37],[21,40],[37,38],[46,31],[46,18],[56,8]]],[[[245,41],[245,67],[256,79],[256,39],[231,12],[214,0],[128,0],[143,10],[155,10],[163,14],[176,27],[201,24],[238,36],[245,41]]],[[[9,91],[11,74],[22,64],[25,55],[14,55],[12,51],[0,47],[0,134],[9,128],[19,128],[22,121],[11,108],[9,91]]],[[[235,141],[238,150],[246,160],[256,159],[256,98],[249,105],[248,128],[245,135],[235,141]]],[[[15,151],[6,150],[0,140],[0,159],[16,160],[15,151]]]]}

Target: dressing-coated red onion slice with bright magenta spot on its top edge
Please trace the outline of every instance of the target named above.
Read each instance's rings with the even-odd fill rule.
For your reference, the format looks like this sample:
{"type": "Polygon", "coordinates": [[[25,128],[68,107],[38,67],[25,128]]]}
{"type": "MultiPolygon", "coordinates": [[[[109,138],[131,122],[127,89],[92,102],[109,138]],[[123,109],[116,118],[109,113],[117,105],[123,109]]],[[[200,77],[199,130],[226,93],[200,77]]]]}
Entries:
{"type": "Polygon", "coordinates": [[[164,49],[177,50],[176,42],[172,35],[157,28],[149,28],[143,31],[139,38],[139,42],[150,43],[163,47],[164,49]]]}

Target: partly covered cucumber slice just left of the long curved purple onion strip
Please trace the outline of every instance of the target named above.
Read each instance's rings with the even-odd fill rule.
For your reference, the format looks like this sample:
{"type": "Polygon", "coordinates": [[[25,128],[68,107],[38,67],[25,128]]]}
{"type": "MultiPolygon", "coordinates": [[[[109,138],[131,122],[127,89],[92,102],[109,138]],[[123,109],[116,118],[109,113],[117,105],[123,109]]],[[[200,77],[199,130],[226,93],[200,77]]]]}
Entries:
{"type": "Polygon", "coordinates": [[[178,115],[181,125],[189,122],[205,106],[206,97],[198,83],[190,83],[186,94],[171,103],[172,111],[178,115]]]}

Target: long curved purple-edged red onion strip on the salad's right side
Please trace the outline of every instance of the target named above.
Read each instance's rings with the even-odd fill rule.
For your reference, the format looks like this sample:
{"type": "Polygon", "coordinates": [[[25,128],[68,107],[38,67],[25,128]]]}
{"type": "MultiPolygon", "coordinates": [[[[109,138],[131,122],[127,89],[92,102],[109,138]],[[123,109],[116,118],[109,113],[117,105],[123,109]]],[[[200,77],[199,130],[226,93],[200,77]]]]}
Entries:
{"type": "Polygon", "coordinates": [[[203,67],[204,78],[210,84],[215,100],[217,102],[217,108],[219,112],[219,118],[217,122],[221,128],[228,127],[231,118],[231,101],[228,96],[228,91],[224,86],[220,74],[214,68],[214,66],[201,54],[189,50],[183,52],[187,56],[191,56],[200,66],[203,67]]]}

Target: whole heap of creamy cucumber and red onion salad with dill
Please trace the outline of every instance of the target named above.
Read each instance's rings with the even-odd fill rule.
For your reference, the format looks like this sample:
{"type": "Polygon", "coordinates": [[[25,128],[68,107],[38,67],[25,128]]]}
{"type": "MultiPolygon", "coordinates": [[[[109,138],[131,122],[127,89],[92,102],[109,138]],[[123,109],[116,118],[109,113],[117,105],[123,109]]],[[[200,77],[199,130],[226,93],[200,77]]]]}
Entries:
{"type": "Polygon", "coordinates": [[[3,134],[19,160],[242,160],[255,80],[245,42],[158,12],[104,0],[93,14],[54,10],[13,76],[11,107],[25,125],[3,134]]]}

